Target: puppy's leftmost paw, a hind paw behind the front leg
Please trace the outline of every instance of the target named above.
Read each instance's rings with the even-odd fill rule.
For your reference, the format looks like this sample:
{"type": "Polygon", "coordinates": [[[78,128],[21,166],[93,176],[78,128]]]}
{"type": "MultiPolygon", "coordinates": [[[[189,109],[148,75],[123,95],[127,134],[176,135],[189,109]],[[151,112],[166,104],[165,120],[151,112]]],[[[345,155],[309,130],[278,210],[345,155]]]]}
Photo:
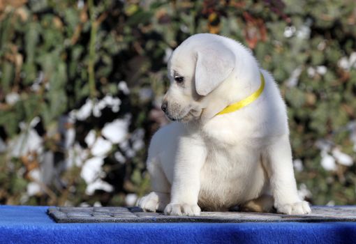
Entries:
{"type": "Polygon", "coordinates": [[[138,200],[138,206],[145,212],[163,211],[169,202],[169,195],[161,192],[151,192],[138,200]]]}

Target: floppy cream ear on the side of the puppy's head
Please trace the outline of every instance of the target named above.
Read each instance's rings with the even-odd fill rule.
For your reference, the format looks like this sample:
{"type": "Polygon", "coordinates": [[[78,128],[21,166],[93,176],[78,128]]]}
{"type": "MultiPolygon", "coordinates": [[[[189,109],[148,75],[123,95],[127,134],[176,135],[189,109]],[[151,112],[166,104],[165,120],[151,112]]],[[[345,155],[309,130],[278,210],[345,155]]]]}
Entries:
{"type": "Polygon", "coordinates": [[[206,96],[216,89],[235,67],[235,55],[228,47],[219,43],[204,47],[197,52],[195,66],[195,89],[206,96]]]}

